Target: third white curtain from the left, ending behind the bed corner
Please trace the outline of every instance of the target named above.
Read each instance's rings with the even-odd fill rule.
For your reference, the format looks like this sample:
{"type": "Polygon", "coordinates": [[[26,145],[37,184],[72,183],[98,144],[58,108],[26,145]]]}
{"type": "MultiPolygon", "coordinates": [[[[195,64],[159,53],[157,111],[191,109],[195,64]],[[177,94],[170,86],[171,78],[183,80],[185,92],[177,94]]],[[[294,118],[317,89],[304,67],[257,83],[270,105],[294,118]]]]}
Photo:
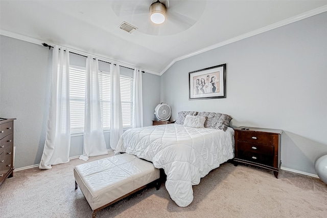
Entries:
{"type": "Polygon", "coordinates": [[[120,67],[118,64],[110,63],[110,74],[110,147],[115,150],[123,135],[120,67]]]}

